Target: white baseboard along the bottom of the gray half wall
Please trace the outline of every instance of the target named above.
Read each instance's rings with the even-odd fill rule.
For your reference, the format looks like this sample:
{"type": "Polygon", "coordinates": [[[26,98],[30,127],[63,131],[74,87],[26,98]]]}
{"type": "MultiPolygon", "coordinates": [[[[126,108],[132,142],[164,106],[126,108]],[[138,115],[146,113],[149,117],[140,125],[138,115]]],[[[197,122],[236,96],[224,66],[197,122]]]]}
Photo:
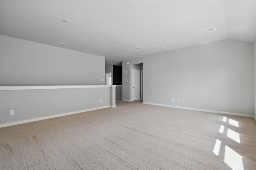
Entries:
{"type": "Polygon", "coordinates": [[[5,123],[5,124],[0,125],[0,127],[19,125],[19,124],[22,124],[22,123],[28,123],[28,122],[32,122],[32,121],[39,121],[39,120],[50,119],[50,118],[54,118],[54,117],[72,115],[72,114],[76,114],[76,113],[82,113],[82,112],[86,112],[86,111],[104,109],[104,108],[108,108],[108,107],[116,107],[116,106],[103,106],[103,107],[96,107],[96,108],[92,108],[92,109],[85,109],[85,110],[79,110],[79,111],[72,111],[72,112],[68,112],[68,113],[61,113],[61,114],[58,114],[58,115],[38,117],[38,118],[34,118],[34,119],[28,119],[28,120],[16,121],[16,122],[11,122],[11,123],[5,123]]]}

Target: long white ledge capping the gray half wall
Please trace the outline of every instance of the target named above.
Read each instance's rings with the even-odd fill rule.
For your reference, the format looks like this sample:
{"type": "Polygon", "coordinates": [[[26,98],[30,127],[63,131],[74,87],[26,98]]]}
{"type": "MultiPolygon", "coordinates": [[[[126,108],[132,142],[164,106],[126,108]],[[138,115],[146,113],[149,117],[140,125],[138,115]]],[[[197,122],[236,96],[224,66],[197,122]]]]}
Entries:
{"type": "Polygon", "coordinates": [[[43,90],[67,88],[115,88],[116,85],[71,85],[71,86],[0,86],[0,90],[43,90]]]}

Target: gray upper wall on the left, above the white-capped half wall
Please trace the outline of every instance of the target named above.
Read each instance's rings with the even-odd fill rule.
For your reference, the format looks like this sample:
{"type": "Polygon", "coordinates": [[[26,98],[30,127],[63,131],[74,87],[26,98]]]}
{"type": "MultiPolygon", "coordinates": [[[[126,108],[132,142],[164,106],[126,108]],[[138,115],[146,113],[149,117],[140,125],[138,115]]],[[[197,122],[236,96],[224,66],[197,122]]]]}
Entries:
{"type": "Polygon", "coordinates": [[[3,35],[0,38],[1,86],[105,84],[105,57],[3,35]]]}

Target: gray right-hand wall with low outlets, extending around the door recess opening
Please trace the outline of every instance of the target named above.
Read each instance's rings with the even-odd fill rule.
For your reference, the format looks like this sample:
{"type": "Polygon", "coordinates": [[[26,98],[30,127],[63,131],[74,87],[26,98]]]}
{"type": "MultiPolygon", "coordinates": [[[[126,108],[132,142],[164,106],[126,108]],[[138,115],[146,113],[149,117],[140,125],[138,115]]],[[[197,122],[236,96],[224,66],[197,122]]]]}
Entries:
{"type": "Polygon", "coordinates": [[[253,43],[225,40],[123,61],[123,99],[131,100],[125,62],[143,63],[143,102],[254,115],[253,53],[253,43]]]}

